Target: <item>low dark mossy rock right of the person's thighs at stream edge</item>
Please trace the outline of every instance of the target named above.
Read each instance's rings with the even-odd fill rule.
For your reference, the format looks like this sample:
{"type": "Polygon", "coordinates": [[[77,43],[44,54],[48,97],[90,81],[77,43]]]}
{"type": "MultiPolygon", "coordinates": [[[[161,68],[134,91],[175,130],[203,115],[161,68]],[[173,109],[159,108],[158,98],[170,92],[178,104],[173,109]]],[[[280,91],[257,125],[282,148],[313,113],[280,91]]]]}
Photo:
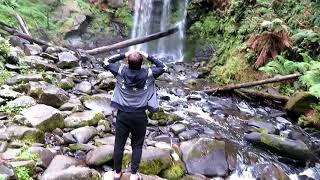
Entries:
{"type": "Polygon", "coordinates": [[[148,114],[148,117],[152,120],[158,121],[158,124],[160,126],[165,126],[167,124],[171,124],[175,121],[180,120],[180,118],[177,115],[169,114],[164,110],[161,110],[159,112],[151,112],[148,114]]]}

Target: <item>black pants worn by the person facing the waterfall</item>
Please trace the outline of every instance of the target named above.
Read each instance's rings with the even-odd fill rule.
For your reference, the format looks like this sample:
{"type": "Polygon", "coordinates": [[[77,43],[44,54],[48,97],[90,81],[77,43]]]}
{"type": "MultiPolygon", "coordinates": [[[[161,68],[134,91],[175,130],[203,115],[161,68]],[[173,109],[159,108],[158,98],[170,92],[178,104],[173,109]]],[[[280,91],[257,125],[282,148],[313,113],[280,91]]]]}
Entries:
{"type": "Polygon", "coordinates": [[[129,133],[131,133],[131,172],[137,173],[142,154],[142,146],[148,118],[145,112],[123,112],[118,110],[116,122],[116,138],[114,145],[114,167],[117,173],[121,172],[123,151],[129,133]]]}

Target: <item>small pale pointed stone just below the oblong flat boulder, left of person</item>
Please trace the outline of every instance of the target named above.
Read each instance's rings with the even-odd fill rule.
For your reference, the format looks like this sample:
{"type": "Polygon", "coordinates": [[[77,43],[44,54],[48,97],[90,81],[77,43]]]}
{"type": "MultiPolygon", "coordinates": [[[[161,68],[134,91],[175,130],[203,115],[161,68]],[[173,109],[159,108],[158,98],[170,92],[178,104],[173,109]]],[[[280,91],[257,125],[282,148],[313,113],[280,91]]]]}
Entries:
{"type": "Polygon", "coordinates": [[[92,126],[85,126],[75,130],[72,130],[70,134],[72,134],[78,143],[87,143],[93,136],[97,135],[96,128],[92,126]]]}

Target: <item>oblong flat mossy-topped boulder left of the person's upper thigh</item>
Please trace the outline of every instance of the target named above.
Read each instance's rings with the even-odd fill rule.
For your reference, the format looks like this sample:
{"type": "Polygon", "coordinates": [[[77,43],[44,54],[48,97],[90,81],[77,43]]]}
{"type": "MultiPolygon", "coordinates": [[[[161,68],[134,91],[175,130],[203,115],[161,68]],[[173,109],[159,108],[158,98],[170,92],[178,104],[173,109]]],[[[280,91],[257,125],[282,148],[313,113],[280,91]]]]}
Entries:
{"type": "Polygon", "coordinates": [[[104,117],[104,114],[98,111],[76,112],[65,118],[64,123],[69,128],[96,126],[104,117]]]}

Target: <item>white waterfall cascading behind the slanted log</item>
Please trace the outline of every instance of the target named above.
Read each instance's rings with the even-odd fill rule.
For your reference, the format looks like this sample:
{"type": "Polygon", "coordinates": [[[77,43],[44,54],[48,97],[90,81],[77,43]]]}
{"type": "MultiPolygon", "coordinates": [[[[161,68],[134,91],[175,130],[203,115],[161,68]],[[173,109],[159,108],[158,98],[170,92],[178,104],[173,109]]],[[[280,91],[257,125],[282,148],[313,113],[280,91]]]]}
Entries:
{"type": "Polygon", "coordinates": [[[165,31],[175,25],[179,26],[179,32],[159,40],[133,46],[130,50],[146,51],[165,57],[168,62],[182,61],[187,5],[187,0],[135,0],[132,38],[165,31]],[[172,22],[173,19],[176,22],[172,22]]]}

